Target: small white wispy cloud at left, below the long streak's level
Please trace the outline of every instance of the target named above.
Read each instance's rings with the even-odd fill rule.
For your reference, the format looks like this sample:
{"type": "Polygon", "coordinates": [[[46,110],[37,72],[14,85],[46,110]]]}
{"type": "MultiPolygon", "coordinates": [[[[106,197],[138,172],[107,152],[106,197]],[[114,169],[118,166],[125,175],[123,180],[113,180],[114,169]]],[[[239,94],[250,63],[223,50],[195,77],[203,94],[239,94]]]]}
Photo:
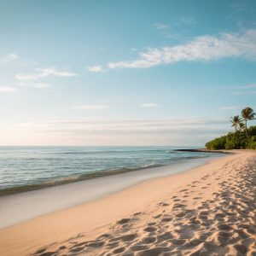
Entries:
{"type": "Polygon", "coordinates": [[[26,80],[37,80],[42,78],[47,78],[49,76],[57,76],[57,77],[74,77],[77,76],[77,73],[71,73],[67,71],[60,71],[55,67],[49,68],[36,68],[36,73],[20,73],[16,75],[16,79],[21,81],[26,80]]]}

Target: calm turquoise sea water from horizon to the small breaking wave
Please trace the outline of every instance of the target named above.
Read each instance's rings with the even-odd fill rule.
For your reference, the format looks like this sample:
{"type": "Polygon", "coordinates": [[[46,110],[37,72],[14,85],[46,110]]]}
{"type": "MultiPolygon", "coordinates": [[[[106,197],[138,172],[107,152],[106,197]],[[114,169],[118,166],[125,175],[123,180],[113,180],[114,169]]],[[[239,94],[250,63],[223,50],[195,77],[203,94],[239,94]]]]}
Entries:
{"type": "Polygon", "coordinates": [[[177,147],[0,147],[0,192],[212,157],[174,149],[177,147]]]}

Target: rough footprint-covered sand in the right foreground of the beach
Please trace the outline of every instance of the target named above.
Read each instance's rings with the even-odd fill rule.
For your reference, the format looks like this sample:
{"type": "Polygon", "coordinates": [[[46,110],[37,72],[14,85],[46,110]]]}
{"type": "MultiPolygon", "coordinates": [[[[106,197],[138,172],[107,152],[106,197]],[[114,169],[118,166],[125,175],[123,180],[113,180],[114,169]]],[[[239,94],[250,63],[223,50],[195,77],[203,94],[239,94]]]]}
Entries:
{"type": "Polygon", "coordinates": [[[79,234],[32,255],[256,255],[255,185],[255,158],[232,160],[93,241],[79,234]]]}

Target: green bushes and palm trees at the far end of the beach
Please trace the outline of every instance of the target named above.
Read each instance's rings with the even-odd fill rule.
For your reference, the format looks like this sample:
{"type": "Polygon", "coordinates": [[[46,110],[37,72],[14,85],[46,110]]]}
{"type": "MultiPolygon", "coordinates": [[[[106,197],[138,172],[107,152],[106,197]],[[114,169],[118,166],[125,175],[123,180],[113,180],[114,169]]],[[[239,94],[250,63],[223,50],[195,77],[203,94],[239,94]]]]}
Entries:
{"type": "Polygon", "coordinates": [[[231,126],[235,128],[235,132],[229,132],[225,136],[206,143],[207,149],[256,149],[256,125],[247,128],[247,121],[255,119],[255,115],[253,108],[242,109],[241,117],[236,115],[230,119],[231,126]]]}

